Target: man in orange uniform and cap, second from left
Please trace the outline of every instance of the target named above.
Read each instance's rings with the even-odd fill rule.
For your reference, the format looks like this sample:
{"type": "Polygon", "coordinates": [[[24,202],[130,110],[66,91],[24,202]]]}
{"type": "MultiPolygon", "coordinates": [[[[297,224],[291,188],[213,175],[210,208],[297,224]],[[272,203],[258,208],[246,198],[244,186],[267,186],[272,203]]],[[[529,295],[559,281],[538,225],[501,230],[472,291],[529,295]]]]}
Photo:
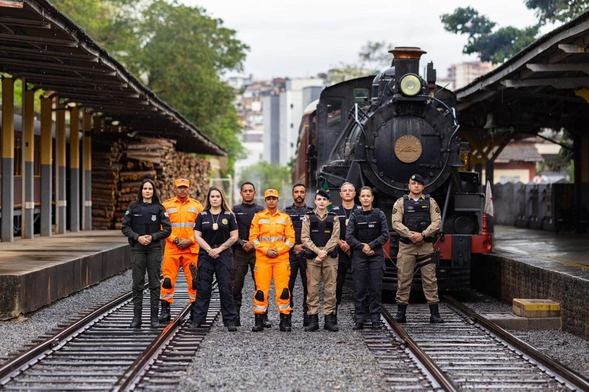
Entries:
{"type": "MultiPolygon", "coordinates": [[[[193,226],[203,206],[190,197],[190,180],[179,178],[174,181],[176,197],[166,200],[163,205],[172,223],[172,234],[166,239],[164,263],[161,267],[164,277],[161,283],[160,321],[170,321],[170,304],[174,300],[174,285],[180,266],[184,270],[188,283],[188,298],[194,305],[196,299],[196,282],[193,273],[198,263],[198,243],[194,239],[193,226]],[[192,264],[192,266],[191,266],[192,264]]],[[[196,276],[194,276],[196,279],[196,276]]],[[[192,312],[191,312],[192,314],[192,312]]]]}

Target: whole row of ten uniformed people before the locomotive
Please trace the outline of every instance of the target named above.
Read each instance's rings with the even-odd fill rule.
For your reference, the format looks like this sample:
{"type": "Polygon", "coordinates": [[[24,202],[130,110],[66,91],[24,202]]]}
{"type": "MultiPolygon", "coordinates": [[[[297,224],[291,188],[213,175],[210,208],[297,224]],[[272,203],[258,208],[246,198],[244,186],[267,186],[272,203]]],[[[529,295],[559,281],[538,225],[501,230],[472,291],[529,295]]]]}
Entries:
{"type": "MultiPolygon", "coordinates": [[[[395,318],[401,323],[406,321],[415,266],[421,268],[423,292],[431,310],[430,321],[443,322],[438,309],[433,249],[435,234],[441,227],[441,216],[435,200],[422,195],[424,185],[421,176],[411,176],[409,195],[397,200],[393,206],[392,229],[400,237],[396,262],[398,313],[395,318]]],[[[240,188],[242,202],[231,212],[219,188],[209,189],[203,209],[189,196],[189,180],[177,179],[175,186],[176,197],[161,205],[153,181],[144,180],[137,201],[131,203],[123,219],[123,233],[130,238],[132,245],[135,307],[131,327],[141,325],[145,270],[150,278],[151,326],[157,327],[159,321],[170,321],[174,285],[182,267],[188,282],[188,296],[193,303],[191,318],[195,327],[206,317],[213,274],[219,284],[225,326],[234,331],[241,325],[241,292],[250,270],[256,285],[252,331],[272,327],[267,318],[272,280],[280,313],[280,330],[292,330],[290,313],[294,306],[297,272],[303,283],[301,303],[305,331],[319,329],[321,280],[324,329],[337,331],[337,306],[342,301],[346,273],[351,269],[355,292],[354,329],[362,329],[367,316],[372,321],[372,328],[379,328],[385,271],[383,245],[388,241],[389,229],[385,214],[372,207],[374,195],[370,187],[360,189],[360,205],[356,205],[355,187],[344,183],[340,188],[342,204],[329,211],[328,192],[317,190],[313,209],[305,204],[305,185],[297,183],[292,188],[293,204],[281,212],[277,209],[279,192],[276,189],[264,192],[266,206],[262,207],[254,203],[256,189],[253,183],[245,182],[240,188]],[[166,237],[160,289],[161,245],[158,240],[166,237]],[[157,282],[157,285],[151,282],[157,282]],[[159,319],[158,299],[161,301],[159,319]]]]}

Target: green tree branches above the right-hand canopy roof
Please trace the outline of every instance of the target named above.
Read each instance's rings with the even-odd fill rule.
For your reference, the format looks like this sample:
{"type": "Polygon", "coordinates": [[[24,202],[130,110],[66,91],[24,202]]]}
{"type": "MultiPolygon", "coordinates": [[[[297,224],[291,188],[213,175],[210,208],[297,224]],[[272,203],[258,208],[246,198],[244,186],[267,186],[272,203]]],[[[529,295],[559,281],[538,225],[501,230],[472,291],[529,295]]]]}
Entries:
{"type": "Polygon", "coordinates": [[[472,7],[458,7],[452,14],[440,16],[444,29],[468,36],[462,51],[478,53],[481,61],[502,63],[537,39],[540,27],[547,22],[567,22],[589,8],[587,0],[525,0],[533,9],[538,23],[518,29],[513,26],[495,28],[497,24],[480,15],[472,7]]]}

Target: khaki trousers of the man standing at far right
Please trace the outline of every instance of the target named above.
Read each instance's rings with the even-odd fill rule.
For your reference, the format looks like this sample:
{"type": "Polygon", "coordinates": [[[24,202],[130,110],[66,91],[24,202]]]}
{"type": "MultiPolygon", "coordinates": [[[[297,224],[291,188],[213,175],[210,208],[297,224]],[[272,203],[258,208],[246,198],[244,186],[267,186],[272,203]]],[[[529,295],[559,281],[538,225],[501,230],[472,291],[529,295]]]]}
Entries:
{"type": "MultiPolygon", "coordinates": [[[[423,258],[423,254],[406,254],[399,251],[397,255],[397,296],[398,304],[409,303],[409,293],[411,292],[411,283],[413,282],[413,270],[415,269],[416,259],[423,258]]],[[[423,294],[428,304],[439,302],[438,298],[438,280],[436,280],[436,264],[429,263],[421,267],[421,282],[423,294]]]]}

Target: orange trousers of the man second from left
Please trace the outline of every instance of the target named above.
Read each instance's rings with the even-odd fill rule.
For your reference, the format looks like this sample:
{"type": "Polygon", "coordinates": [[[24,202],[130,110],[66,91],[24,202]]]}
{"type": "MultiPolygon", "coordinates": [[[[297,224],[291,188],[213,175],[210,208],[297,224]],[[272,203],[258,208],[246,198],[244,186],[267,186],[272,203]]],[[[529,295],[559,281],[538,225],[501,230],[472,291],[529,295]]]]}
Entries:
{"type": "Polygon", "coordinates": [[[180,266],[184,270],[184,276],[186,276],[186,282],[188,283],[188,298],[190,302],[196,300],[196,290],[192,287],[190,263],[193,263],[196,268],[198,265],[198,253],[164,254],[164,263],[161,266],[161,273],[164,276],[164,280],[161,283],[160,300],[169,303],[174,301],[174,286],[176,286],[176,278],[178,277],[180,266]]]}

